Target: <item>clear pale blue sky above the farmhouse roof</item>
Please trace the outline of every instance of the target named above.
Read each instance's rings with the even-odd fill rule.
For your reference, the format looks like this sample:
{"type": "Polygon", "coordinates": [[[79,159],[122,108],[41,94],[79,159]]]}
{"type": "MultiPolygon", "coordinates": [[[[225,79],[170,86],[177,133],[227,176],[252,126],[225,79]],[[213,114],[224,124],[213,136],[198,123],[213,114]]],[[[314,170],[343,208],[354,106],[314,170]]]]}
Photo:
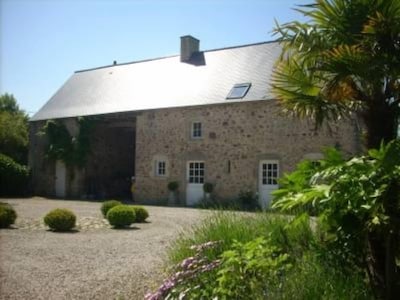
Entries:
{"type": "Polygon", "coordinates": [[[272,40],[310,0],[0,0],[0,94],[30,115],[76,70],[272,40]]]}

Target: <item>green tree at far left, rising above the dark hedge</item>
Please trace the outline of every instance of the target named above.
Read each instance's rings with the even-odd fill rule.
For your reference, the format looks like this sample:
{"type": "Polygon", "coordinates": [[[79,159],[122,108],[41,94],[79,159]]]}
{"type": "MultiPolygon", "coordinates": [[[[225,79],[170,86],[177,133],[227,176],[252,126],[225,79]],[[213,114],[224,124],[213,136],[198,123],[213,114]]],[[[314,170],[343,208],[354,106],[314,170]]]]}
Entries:
{"type": "Polygon", "coordinates": [[[27,163],[28,116],[7,93],[0,96],[0,153],[27,163]]]}

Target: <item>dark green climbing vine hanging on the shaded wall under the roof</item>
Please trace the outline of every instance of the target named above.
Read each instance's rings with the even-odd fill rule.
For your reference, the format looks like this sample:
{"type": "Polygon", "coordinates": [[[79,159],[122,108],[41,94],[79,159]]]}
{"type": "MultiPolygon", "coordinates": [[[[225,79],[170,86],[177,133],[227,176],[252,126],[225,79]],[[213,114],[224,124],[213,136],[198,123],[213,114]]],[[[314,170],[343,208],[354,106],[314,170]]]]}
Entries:
{"type": "Polygon", "coordinates": [[[54,160],[62,160],[67,166],[82,168],[90,154],[90,135],[94,120],[78,118],[79,134],[71,136],[64,123],[59,120],[48,120],[41,133],[48,140],[46,154],[54,160]]]}

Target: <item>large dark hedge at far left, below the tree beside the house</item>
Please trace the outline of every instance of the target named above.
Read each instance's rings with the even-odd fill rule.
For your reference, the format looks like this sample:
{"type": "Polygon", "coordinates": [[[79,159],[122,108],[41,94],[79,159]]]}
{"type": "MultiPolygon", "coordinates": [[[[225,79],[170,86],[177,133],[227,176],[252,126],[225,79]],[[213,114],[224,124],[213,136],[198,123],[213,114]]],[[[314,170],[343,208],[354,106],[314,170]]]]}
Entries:
{"type": "Polygon", "coordinates": [[[28,191],[29,169],[0,153],[0,196],[25,195],[28,191]]]}

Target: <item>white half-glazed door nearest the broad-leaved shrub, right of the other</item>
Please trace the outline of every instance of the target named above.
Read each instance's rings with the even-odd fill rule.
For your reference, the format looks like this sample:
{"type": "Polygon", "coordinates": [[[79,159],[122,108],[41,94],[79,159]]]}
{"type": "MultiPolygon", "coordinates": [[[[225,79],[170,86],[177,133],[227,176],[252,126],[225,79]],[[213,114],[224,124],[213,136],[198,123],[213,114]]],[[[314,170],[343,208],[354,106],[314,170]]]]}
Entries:
{"type": "Polygon", "coordinates": [[[278,188],[279,161],[260,161],[258,178],[260,205],[263,209],[266,209],[271,206],[271,193],[278,188]]]}

